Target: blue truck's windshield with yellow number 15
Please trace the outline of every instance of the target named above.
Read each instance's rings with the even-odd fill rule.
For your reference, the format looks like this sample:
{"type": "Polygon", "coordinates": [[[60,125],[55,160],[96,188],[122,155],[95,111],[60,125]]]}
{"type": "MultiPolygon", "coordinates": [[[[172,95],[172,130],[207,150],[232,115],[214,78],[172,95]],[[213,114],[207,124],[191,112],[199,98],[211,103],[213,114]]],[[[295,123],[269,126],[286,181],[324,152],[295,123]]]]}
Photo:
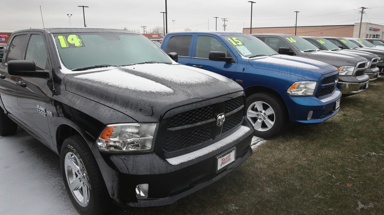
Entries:
{"type": "Polygon", "coordinates": [[[277,54],[261,40],[248,34],[230,34],[222,36],[236,51],[245,57],[268,56],[277,54]]]}

